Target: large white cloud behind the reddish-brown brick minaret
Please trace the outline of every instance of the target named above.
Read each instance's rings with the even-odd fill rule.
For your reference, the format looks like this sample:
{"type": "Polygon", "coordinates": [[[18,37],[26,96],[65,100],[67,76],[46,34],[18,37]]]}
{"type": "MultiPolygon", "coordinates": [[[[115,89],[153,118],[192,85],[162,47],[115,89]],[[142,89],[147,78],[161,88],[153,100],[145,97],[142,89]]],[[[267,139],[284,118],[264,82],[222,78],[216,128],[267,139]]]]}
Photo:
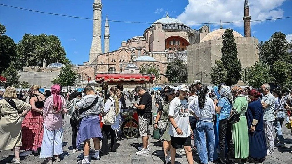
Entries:
{"type": "MultiPolygon", "coordinates": [[[[281,18],[284,11],[280,8],[285,0],[248,1],[251,20],[281,18]]],[[[192,1],[185,7],[185,11],[177,18],[185,23],[233,22],[243,21],[244,0],[210,0],[192,1]]],[[[251,25],[260,22],[251,22],[251,25]]],[[[201,25],[199,25],[201,26],[201,25]]],[[[216,25],[219,26],[219,25],[216,25]]],[[[230,24],[223,24],[223,27],[230,24]]],[[[231,26],[243,27],[243,23],[233,23],[231,26]]]]}

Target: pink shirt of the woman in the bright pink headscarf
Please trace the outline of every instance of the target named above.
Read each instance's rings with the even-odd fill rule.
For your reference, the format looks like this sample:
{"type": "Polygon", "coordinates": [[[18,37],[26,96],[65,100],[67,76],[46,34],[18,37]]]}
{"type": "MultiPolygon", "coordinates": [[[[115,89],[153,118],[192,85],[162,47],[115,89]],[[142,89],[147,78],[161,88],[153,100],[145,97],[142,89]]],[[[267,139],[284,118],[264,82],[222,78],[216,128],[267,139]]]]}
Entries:
{"type": "Polygon", "coordinates": [[[44,111],[43,111],[43,116],[44,116],[44,125],[48,130],[58,130],[63,126],[63,118],[62,114],[67,113],[67,103],[64,97],[61,96],[62,99],[62,111],[58,113],[54,113],[53,109],[53,95],[49,96],[45,100],[44,104],[44,111]]]}

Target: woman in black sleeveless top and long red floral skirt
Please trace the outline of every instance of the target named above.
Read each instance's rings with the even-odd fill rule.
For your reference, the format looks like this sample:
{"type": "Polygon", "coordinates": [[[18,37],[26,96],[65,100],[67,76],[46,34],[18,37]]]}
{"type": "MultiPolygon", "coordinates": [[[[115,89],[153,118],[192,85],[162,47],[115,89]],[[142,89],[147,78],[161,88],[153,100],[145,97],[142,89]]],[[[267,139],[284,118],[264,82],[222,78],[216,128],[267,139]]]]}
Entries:
{"type": "Polygon", "coordinates": [[[38,153],[37,149],[41,147],[44,134],[44,118],[43,107],[45,96],[39,92],[41,86],[33,85],[32,97],[29,104],[32,109],[22,121],[22,146],[21,150],[25,150],[19,156],[27,156],[32,153],[38,153]]]}

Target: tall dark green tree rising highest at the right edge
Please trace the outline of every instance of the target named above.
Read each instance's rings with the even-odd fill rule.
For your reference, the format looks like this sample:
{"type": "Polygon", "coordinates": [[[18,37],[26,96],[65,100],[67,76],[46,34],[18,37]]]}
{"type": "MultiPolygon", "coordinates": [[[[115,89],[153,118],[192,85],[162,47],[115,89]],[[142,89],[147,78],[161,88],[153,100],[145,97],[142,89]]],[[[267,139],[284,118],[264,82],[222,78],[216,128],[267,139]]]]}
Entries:
{"type": "Polygon", "coordinates": [[[288,53],[291,44],[282,32],[275,32],[268,41],[261,41],[258,48],[260,60],[269,66],[278,60],[292,64],[292,53],[288,53]]]}

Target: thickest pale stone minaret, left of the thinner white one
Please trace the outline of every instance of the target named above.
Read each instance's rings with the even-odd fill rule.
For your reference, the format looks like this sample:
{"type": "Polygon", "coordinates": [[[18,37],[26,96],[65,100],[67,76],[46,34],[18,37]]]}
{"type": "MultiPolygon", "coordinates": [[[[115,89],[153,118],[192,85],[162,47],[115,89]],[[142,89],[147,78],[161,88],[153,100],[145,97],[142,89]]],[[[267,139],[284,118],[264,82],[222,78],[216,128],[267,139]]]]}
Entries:
{"type": "Polygon", "coordinates": [[[94,0],[93,3],[93,35],[89,51],[89,63],[93,62],[101,50],[101,0],[94,0]]]}

